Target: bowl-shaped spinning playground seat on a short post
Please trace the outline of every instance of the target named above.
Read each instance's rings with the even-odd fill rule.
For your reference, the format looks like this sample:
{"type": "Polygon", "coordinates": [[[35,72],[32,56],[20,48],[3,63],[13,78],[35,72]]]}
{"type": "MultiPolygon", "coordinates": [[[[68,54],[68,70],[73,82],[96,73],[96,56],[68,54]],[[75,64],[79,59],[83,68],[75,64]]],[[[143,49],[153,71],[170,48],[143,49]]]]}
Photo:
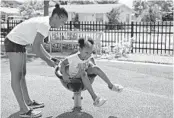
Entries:
{"type": "MultiPolygon", "coordinates": [[[[52,58],[52,60],[57,62],[57,59],[55,59],[55,58],[52,58]]],[[[72,97],[72,99],[74,100],[74,107],[72,110],[80,112],[82,110],[81,100],[83,99],[81,96],[81,92],[86,90],[84,84],[82,83],[82,79],[81,78],[73,78],[73,79],[70,79],[69,83],[65,82],[63,80],[63,76],[60,72],[59,65],[55,68],[55,74],[60,79],[62,85],[66,89],[68,89],[74,93],[74,95],[72,97]]],[[[95,77],[96,77],[95,74],[88,75],[88,78],[89,78],[91,84],[94,82],[95,77]]]]}

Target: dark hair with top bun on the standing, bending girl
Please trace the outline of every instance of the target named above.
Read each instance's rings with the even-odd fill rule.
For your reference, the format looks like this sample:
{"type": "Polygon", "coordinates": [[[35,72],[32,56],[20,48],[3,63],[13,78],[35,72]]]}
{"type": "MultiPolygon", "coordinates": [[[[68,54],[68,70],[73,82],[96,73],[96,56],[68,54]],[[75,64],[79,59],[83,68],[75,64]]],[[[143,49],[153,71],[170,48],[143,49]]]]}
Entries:
{"type": "Polygon", "coordinates": [[[54,14],[57,14],[59,17],[62,17],[63,15],[68,17],[67,11],[63,7],[60,7],[59,4],[55,5],[51,16],[53,16],[54,14]]]}

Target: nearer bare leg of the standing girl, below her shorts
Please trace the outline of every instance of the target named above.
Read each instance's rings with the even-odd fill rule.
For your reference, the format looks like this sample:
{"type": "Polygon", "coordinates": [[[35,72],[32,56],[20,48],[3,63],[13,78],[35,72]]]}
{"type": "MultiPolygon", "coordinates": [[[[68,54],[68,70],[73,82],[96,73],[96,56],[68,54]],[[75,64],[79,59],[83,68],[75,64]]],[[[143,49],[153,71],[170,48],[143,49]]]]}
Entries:
{"type": "Polygon", "coordinates": [[[8,53],[8,57],[10,60],[10,71],[11,71],[11,87],[19,104],[20,111],[26,112],[29,110],[29,107],[25,103],[20,84],[22,75],[24,74],[23,65],[21,63],[23,61],[23,56],[24,56],[23,53],[15,53],[15,52],[8,53]]]}

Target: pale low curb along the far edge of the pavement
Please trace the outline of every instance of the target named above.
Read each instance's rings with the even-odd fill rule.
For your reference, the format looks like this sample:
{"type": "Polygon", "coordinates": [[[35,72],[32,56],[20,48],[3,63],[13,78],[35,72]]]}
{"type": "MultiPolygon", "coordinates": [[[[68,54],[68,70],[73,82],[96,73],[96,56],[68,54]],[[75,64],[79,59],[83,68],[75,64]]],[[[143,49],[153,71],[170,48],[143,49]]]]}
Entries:
{"type": "MultiPolygon", "coordinates": [[[[28,58],[38,58],[38,56],[36,56],[35,54],[27,54],[28,58]]],[[[65,56],[57,56],[57,58],[59,59],[64,59],[65,56]]],[[[7,55],[1,55],[1,58],[8,58],[7,55]]],[[[173,65],[173,63],[165,63],[165,62],[155,62],[155,61],[139,61],[139,60],[130,60],[130,59],[100,59],[97,58],[97,61],[101,61],[101,60],[115,60],[115,61],[122,61],[122,62],[139,62],[139,63],[146,63],[146,64],[163,64],[163,65],[173,65]]]]}

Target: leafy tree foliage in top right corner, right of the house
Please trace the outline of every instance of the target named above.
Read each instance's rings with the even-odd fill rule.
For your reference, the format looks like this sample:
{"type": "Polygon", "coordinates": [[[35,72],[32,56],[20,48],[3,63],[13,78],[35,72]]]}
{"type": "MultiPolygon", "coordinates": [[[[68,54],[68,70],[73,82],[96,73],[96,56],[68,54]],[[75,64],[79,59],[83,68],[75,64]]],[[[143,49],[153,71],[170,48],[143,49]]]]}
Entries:
{"type": "Polygon", "coordinates": [[[141,17],[141,21],[156,22],[162,20],[162,15],[172,12],[173,1],[134,1],[135,16],[141,17]]]}

